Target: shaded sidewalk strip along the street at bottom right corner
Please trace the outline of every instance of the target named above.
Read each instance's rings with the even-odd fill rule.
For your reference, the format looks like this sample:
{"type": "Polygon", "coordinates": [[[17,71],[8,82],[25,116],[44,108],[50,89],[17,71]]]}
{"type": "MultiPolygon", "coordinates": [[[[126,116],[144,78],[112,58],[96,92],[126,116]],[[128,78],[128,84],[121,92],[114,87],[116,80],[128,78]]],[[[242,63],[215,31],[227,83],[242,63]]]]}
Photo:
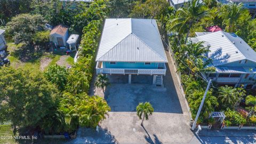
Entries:
{"type": "Polygon", "coordinates": [[[255,130],[207,130],[199,131],[198,136],[209,137],[256,137],[255,130]]]}

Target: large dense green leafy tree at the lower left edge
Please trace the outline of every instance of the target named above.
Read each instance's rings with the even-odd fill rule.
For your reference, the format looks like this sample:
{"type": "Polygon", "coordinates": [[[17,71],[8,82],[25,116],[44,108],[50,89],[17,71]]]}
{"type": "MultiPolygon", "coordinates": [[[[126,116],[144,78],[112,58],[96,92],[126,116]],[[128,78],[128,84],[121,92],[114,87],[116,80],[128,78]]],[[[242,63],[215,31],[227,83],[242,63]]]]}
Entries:
{"type": "Polygon", "coordinates": [[[29,71],[4,67],[0,76],[1,122],[36,127],[56,109],[58,89],[42,75],[30,76],[29,71]]]}

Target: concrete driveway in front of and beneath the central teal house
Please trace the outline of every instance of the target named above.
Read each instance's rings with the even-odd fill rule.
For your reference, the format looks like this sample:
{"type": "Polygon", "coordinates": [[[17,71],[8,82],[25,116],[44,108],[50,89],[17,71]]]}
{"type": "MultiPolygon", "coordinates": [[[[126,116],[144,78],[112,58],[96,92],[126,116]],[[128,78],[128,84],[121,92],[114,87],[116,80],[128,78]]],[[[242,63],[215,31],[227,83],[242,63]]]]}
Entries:
{"type": "Polygon", "coordinates": [[[119,143],[189,143],[193,139],[185,100],[180,94],[177,79],[175,76],[172,78],[174,71],[171,73],[169,67],[172,66],[169,65],[164,87],[151,85],[150,76],[133,76],[135,83],[126,84],[126,76],[122,81],[122,76],[111,75],[112,80],[118,81],[112,81],[105,94],[99,89],[94,91],[94,94],[102,95],[111,107],[109,117],[101,127],[110,131],[119,143]],[[139,78],[145,83],[139,83],[139,78]],[[135,110],[139,102],[146,101],[154,107],[154,113],[142,127],[135,110]]]}

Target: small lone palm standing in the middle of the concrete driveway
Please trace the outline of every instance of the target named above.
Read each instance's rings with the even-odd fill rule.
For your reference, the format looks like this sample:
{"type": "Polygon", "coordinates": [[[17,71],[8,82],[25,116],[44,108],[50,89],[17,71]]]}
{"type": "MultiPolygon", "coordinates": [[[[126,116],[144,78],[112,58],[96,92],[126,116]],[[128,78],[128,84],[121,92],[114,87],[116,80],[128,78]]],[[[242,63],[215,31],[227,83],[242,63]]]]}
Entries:
{"type": "Polygon", "coordinates": [[[154,112],[154,108],[151,106],[149,102],[139,103],[136,110],[137,110],[137,116],[140,119],[142,119],[142,122],[140,125],[143,125],[143,121],[145,117],[146,117],[146,120],[148,120],[148,116],[152,115],[154,112]],[[141,118],[142,115],[143,115],[143,118],[141,118]]]}

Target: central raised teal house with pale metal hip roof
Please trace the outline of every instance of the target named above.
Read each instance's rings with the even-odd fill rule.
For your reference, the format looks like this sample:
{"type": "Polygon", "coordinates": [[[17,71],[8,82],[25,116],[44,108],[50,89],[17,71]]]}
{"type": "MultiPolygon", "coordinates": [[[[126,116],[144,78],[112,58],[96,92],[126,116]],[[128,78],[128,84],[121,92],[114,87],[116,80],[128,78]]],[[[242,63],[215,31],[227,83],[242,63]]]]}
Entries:
{"type": "Polygon", "coordinates": [[[153,76],[162,84],[166,73],[161,36],[154,19],[106,19],[97,53],[97,74],[153,76]]]}

